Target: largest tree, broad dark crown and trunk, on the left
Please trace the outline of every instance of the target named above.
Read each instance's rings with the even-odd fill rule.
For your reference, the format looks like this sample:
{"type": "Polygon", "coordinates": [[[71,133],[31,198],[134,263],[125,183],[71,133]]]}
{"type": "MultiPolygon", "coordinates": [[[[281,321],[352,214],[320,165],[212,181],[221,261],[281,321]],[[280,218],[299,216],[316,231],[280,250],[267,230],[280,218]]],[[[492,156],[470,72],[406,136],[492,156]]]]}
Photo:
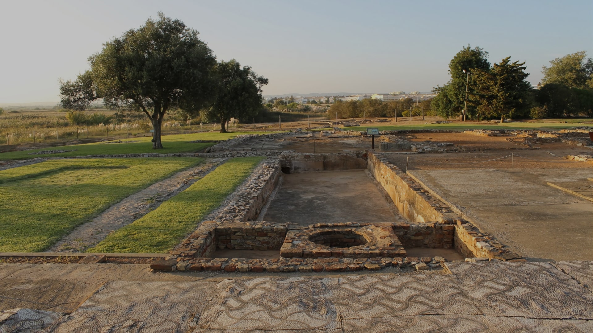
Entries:
{"type": "Polygon", "coordinates": [[[104,44],[89,57],[91,69],[62,81],[60,104],[84,110],[103,99],[111,107],[140,111],[152,123],[153,149],[162,148],[161,125],[172,108],[199,110],[211,99],[212,50],[196,30],[162,12],[142,27],[104,44]]]}

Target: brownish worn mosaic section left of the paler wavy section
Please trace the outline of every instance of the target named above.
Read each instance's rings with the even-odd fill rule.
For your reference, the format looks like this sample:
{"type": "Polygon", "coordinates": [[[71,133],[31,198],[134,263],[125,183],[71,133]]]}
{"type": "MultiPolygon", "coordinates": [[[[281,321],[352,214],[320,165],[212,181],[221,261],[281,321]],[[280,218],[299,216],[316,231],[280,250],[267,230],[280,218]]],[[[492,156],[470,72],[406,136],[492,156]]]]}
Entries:
{"type": "Polygon", "coordinates": [[[215,283],[114,281],[93,294],[53,332],[186,332],[215,283]],[[92,320],[89,320],[91,319],[92,320]]]}

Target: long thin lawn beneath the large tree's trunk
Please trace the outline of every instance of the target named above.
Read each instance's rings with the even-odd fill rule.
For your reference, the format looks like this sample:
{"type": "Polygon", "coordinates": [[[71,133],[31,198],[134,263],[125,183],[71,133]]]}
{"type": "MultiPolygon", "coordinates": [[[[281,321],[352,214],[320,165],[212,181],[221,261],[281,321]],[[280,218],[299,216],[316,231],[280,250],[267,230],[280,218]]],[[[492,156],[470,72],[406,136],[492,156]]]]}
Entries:
{"type": "Polygon", "coordinates": [[[192,153],[200,151],[215,143],[192,143],[195,140],[227,140],[241,134],[267,134],[270,132],[235,132],[235,133],[192,133],[162,136],[162,146],[164,149],[152,149],[152,137],[133,137],[122,139],[122,143],[85,143],[82,145],[60,146],[54,148],[33,149],[22,152],[0,153],[0,160],[30,159],[37,157],[59,157],[59,156],[87,156],[87,155],[115,155],[126,153],[192,153]],[[127,141],[137,141],[129,142],[127,141]],[[47,151],[50,149],[68,149],[74,152],[57,153],[50,155],[28,155],[31,152],[47,151]]]}

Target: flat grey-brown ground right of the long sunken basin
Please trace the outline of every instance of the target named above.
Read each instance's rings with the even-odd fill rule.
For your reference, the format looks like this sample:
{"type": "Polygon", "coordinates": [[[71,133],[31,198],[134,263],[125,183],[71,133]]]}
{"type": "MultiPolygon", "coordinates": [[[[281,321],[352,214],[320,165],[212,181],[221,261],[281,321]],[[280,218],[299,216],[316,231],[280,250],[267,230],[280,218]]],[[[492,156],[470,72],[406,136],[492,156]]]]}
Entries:
{"type": "Polygon", "coordinates": [[[426,188],[530,260],[592,260],[593,203],[546,182],[581,182],[590,168],[410,171],[426,188]]]}

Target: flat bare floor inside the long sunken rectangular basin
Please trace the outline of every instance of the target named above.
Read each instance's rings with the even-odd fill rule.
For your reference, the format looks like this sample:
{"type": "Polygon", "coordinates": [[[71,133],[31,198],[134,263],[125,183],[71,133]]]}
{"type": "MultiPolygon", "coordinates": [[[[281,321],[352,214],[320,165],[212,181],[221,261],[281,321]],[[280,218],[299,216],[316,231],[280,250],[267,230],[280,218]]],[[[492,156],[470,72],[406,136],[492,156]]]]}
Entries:
{"type": "Polygon", "coordinates": [[[366,171],[302,172],[282,177],[282,187],[263,212],[263,220],[304,226],[404,221],[366,171]]]}

